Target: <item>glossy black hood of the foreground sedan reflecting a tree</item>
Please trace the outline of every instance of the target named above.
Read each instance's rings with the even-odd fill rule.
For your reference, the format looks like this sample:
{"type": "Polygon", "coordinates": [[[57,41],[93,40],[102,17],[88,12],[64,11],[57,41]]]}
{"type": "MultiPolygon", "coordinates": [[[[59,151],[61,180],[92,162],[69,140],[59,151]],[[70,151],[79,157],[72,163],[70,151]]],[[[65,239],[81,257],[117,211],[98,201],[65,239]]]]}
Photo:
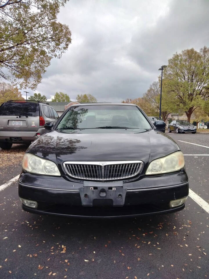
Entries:
{"type": "Polygon", "coordinates": [[[27,152],[58,164],[64,161],[126,161],[148,163],[179,150],[169,136],[157,130],[126,133],[62,133],[52,130],[35,140],[27,152]]]}

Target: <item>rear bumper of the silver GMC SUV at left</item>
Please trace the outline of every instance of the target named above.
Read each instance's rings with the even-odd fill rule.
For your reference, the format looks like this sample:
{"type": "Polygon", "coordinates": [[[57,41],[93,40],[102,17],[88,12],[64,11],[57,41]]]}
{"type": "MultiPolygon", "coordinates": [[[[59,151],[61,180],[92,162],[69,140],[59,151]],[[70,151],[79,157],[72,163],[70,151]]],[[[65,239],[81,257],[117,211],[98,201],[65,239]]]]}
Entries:
{"type": "Polygon", "coordinates": [[[39,128],[37,131],[0,131],[0,142],[26,143],[36,140],[37,133],[40,135],[48,132],[45,128],[39,128]]]}

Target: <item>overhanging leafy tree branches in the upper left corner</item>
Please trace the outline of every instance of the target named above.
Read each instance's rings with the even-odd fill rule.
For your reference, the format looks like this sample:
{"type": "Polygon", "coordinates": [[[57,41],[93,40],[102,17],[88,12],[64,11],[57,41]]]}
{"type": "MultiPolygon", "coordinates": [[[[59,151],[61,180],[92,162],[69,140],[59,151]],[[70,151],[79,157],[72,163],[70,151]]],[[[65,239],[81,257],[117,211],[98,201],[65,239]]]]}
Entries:
{"type": "Polygon", "coordinates": [[[0,77],[36,89],[51,59],[71,43],[69,27],[57,21],[66,1],[0,1],[0,77]]]}

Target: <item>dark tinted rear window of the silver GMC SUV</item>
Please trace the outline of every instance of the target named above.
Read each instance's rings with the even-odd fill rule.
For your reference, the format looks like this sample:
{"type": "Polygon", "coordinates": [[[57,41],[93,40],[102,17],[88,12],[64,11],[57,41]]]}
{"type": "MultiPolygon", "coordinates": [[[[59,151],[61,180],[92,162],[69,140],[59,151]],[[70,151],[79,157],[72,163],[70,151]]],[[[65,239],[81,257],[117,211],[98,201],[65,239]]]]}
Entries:
{"type": "Polygon", "coordinates": [[[0,115],[39,116],[39,103],[8,102],[0,106],[0,115]]]}

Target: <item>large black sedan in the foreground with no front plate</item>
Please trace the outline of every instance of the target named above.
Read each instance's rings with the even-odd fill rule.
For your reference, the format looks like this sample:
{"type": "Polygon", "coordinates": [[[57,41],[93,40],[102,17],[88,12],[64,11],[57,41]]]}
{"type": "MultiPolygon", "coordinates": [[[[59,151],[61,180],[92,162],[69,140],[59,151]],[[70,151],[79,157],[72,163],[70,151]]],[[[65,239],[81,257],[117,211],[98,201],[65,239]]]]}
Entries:
{"type": "Polygon", "coordinates": [[[22,208],[38,214],[121,217],[175,212],[189,184],[183,154],[133,104],[76,104],[27,149],[22,208]]]}

